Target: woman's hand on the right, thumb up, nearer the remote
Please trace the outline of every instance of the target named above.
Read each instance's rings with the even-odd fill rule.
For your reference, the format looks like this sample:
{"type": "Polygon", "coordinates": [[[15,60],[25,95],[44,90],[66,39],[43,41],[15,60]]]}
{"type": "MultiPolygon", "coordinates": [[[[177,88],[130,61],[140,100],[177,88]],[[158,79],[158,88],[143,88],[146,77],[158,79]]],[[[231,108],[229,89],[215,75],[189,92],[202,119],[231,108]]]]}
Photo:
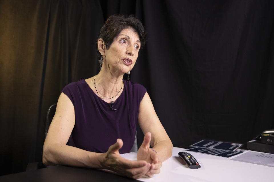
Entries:
{"type": "Polygon", "coordinates": [[[148,132],[145,134],[144,141],[137,153],[137,160],[145,160],[151,164],[150,170],[146,173],[147,176],[160,173],[160,167],[162,167],[162,162],[158,160],[157,152],[149,147],[150,140],[151,133],[148,132]]]}

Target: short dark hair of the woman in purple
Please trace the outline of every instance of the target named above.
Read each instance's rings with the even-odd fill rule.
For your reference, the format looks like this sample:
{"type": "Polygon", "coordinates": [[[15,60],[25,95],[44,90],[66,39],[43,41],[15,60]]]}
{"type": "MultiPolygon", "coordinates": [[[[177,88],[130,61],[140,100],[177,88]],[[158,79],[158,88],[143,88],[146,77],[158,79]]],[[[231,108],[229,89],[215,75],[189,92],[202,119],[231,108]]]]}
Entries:
{"type": "MultiPolygon", "coordinates": [[[[120,32],[126,28],[133,28],[133,30],[139,35],[141,41],[141,48],[146,44],[146,31],[141,21],[137,19],[134,15],[111,15],[102,26],[97,41],[99,38],[102,38],[106,44],[106,49],[109,49],[112,44],[114,38],[116,38],[120,32]]],[[[96,42],[96,50],[98,54],[101,56],[97,42],[96,42]]]]}

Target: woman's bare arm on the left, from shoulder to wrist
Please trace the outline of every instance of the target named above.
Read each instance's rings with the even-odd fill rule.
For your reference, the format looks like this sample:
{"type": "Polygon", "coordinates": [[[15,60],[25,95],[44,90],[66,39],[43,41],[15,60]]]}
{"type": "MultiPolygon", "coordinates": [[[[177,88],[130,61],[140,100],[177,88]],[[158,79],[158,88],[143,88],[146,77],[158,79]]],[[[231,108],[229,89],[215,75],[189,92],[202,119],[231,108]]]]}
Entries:
{"type": "Polygon", "coordinates": [[[102,167],[99,161],[102,154],[87,152],[66,145],[74,123],[73,104],[67,95],[61,93],[44,143],[43,163],[45,165],[63,164],[81,167],[102,167]]]}

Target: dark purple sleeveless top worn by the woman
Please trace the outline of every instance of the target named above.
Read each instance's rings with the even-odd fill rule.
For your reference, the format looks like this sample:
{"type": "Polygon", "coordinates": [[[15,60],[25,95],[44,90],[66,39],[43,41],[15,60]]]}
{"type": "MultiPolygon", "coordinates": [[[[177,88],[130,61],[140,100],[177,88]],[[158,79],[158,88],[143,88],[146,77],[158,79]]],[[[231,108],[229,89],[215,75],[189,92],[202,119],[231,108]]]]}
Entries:
{"type": "Polygon", "coordinates": [[[120,154],[128,153],[134,144],[140,102],[146,89],[139,83],[124,82],[121,95],[113,103],[100,99],[84,79],[68,84],[64,89],[74,106],[75,125],[68,145],[83,150],[104,153],[117,138],[124,142],[120,154]]]}

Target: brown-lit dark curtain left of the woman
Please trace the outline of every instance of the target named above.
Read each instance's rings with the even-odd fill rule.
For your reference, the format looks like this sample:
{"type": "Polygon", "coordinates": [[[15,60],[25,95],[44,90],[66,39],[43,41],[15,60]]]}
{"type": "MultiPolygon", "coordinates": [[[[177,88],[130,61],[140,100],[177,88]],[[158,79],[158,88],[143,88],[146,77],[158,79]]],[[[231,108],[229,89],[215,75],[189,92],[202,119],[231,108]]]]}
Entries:
{"type": "Polygon", "coordinates": [[[2,174],[41,160],[47,109],[65,85],[96,74],[100,9],[98,1],[0,1],[2,174]]]}

